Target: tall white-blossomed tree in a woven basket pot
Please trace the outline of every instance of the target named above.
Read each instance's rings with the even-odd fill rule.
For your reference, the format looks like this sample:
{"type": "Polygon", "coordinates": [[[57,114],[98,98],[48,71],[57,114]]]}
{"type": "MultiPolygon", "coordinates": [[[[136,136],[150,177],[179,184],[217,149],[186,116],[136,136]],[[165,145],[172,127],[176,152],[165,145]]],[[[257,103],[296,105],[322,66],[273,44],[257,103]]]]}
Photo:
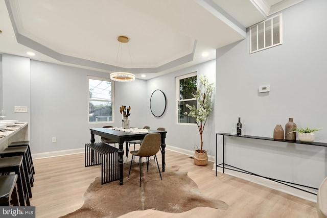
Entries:
{"type": "Polygon", "coordinates": [[[197,101],[197,107],[195,105],[186,104],[185,106],[190,110],[190,112],[184,112],[184,114],[196,119],[196,124],[198,125],[198,130],[200,133],[201,147],[200,149],[195,149],[193,157],[194,163],[196,165],[206,165],[208,163],[208,156],[206,151],[203,150],[202,133],[204,131],[207,117],[213,110],[211,95],[213,93],[214,87],[213,83],[209,83],[205,76],[200,76],[199,79],[200,87],[197,87],[196,93],[193,93],[193,97],[197,101]]]}

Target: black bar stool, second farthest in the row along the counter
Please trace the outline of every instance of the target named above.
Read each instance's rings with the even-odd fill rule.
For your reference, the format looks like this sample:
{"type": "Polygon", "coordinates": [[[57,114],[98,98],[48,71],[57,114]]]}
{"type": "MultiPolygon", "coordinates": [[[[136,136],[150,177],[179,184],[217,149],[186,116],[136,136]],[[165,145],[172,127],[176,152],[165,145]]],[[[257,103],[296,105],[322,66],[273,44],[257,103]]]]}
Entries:
{"type": "Polygon", "coordinates": [[[34,177],[32,173],[32,167],[29,161],[29,155],[27,149],[28,149],[27,146],[6,148],[4,151],[0,152],[0,157],[13,157],[13,156],[20,156],[20,155],[23,156],[22,164],[24,168],[25,179],[28,184],[29,197],[32,198],[31,187],[33,187],[34,177]]]}

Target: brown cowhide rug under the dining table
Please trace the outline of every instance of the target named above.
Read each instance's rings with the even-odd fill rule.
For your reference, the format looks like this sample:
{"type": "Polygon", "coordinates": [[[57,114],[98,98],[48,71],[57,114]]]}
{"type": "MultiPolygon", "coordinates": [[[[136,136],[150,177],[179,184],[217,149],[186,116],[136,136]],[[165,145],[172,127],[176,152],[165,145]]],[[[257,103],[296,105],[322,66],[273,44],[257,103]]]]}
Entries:
{"type": "Polygon", "coordinates": [[[146,209],[181,213],[196,207],[228,208],[223,201],[206,198],[188,173],[179,171],[179,166],[166,167],[160,180],[154,160],[150,160],[149,172],[144,162],[141,187],[139,165],[133,163],[128,178],[129,166],[130,162],[124,163],[123,185],[119,185],[119,181],[101,185],[101,177],[97,177],[84,193],[84,205],[62,217],[118,217],[146,209]]]}

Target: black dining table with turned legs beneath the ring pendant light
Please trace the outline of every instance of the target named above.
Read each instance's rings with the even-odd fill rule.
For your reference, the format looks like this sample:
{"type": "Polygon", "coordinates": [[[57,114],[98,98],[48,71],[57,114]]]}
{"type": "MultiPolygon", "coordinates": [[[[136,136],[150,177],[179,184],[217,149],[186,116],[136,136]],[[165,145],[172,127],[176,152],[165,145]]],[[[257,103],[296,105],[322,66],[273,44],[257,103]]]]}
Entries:
{"type": "MultiPolygon", "coordinates": [[[[147,131],[126,131],[126,130],[116,130],[115,128],[91,128],[91,143],[95,143],[95,135],[99,135],[101,137],[105,137],[108,139],[113,139],[118,142],[118,164],[119,164],[119,184],[123,185],[123,166],[124,166],[124,142],[126,142],[126,151],[128,151],[128,141],[132,140],[141,140],[149,133],[160,133],[161,135],[161,159],[162,159],[162,172],[165,172],[165,138],[167,131],[161,130],[147,130],[147,131]]],[[[128,156],[128,152],[126,152],[126,156],[128,156]]]]}

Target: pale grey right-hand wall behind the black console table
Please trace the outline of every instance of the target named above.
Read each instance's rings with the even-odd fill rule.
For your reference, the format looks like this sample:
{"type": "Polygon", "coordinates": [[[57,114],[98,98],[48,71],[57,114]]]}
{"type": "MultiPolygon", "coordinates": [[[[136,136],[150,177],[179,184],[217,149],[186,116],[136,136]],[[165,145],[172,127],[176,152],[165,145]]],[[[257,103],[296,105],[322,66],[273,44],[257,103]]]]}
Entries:
{"type": "MultiPolygon", "coordinates": [[[[273,137],[291,117],[298,127],[322,128],[316,141],[327,142],[326,10],[327,1],[308,0],[283,11],[282,45],[249,54],[246,38],[217,50],[217,133],[231,133],[241,117],[244,134],[273,137]],[[270,92],[258,93],[260,85],[270,92]]],[[[226,149],[227,163],[268,177],[318,187],[327,176],[323,147],[227,138],[226,149]]]]}

